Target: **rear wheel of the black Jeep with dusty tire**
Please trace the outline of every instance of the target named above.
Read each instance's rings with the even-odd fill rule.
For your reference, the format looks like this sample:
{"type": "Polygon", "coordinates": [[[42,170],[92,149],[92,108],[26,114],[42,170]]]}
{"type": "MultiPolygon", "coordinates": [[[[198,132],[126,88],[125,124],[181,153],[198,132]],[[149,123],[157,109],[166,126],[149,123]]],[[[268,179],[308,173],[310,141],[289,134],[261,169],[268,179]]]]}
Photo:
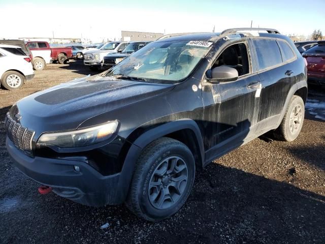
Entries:
{"type": "Polygon", "coordinates": [[[305,104],[301,97],[293,96],[280,126],[273,132],[281,141],[294,141],[300,134],[305,118],[305,104]]]}

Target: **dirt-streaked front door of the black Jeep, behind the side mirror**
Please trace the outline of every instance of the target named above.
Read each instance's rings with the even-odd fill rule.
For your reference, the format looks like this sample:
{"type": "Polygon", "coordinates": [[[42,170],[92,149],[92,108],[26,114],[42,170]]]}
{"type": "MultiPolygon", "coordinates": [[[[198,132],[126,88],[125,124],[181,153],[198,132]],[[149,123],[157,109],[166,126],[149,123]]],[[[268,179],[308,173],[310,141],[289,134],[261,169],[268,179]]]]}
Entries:
{"type": "MultiPolygon", "coordinates": [[[[243,53],[246,52],[247,55],[248,73],[239,76],[236,81],[206,83],[202,87],[207,161],[240,146],[245,139],[254,137],[259,76],[252,67],[253,59],[248,42],[239,44],[243,44],[246,49],[243,53]]],[[[222,53],[221,51],[216,59],[222,53]]]]}

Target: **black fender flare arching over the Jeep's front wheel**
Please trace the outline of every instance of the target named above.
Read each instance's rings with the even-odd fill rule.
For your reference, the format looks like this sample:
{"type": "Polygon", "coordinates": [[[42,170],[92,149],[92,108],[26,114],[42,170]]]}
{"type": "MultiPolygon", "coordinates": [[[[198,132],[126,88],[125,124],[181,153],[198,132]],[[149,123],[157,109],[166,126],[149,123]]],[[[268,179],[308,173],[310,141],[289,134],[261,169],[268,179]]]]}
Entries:
{"type": "Polygon", "coordinates": [[[133,177],[136,161],[141,155],[143,148],[145,148],[152,141],[168,135],[170,133],[183,130],[190,129],[194,132],[196,139],[198,141],[199,150],[201,153],[202,164],[204,162],[204,145],[203,145],[203,137],[201,131],[199,129],[198,124],[193,119],[179,119],[175,121],[168,122],[166,124],[155,127],[151,130],[146,131],[141,136],[139,136],[134,143],[129,148],[127,155],[124,160],[124,164],[122,170],[119,175],[118,180],[118,191],[119,191],[119,199],[117,200],[119,203],[125,201],[128,193],[129,186],[131,185],[131,180],[133,177]]]}

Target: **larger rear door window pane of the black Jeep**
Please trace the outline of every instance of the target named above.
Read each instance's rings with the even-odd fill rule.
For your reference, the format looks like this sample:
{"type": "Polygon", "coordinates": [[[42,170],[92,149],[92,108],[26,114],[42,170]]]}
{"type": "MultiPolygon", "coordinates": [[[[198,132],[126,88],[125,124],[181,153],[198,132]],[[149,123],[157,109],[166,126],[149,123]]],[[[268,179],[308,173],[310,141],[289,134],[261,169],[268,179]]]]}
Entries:
{"type": "Polygon", "coordinates": [[[275,40],[255,39],[259,70],[264,70],[282,63],[281,52],[275,40]]]}

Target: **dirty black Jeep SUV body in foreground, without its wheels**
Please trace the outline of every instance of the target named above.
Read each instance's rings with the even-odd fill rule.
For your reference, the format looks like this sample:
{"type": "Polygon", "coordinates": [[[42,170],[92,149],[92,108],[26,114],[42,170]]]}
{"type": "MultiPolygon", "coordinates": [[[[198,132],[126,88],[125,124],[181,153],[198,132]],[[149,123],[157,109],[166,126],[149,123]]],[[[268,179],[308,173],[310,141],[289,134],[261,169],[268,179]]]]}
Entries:
{"type": "Polygon", "coordinates": [[[18,101],[6,117],[6,145],[22,172],[52,187],[56,194],[91,206],[120,204],[148,144],[161,137],[178,140],[191,150],[197,167],[204,167],[278,128],[294,95],[306,101],[306,71],[294,43],[275,33],[206,33],[163,39],[102,75],[18,101]],[[293,56],[262,67],[265,64],[258,59],[256,46],[263,40],[271,40],[267,45],[275,45],[279,53],[283,42],[293,56]],[[225,50],[246,52],[237,59],[245,59],[245,65],[222,60],[225,50]],[[220,64],[236,67],[239,77],[210,82],[211,69],[220,64]],[[63,139],[51,142],[58,140],[58,134],[48,136],[107,123],[112,123],[112,133],[84,146],[61,147],[63,139]],[[42,135],[46,138],[40,141],[42,135]]]}

